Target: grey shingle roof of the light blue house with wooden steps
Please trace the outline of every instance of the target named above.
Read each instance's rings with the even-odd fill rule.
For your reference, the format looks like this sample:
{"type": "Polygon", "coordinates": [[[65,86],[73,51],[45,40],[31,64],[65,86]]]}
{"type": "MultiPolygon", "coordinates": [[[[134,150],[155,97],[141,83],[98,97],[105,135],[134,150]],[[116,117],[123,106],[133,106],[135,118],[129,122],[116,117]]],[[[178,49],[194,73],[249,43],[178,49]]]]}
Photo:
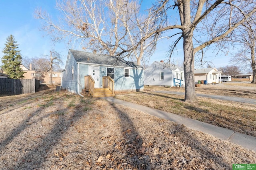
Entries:
{"type": "Polygon", "coordinates": [[[71,50],[70,52],[74,56],[76,62],[78,63],[89,63],[89,64],[100,64],[108,66],[122,66],[122,67],[132,67],[132,68],[142,68],[142,66],[137,63],[130,61],[125,61],[119,57],[113,57],[110,55],[88,53],[85,51],[71,50]]]}

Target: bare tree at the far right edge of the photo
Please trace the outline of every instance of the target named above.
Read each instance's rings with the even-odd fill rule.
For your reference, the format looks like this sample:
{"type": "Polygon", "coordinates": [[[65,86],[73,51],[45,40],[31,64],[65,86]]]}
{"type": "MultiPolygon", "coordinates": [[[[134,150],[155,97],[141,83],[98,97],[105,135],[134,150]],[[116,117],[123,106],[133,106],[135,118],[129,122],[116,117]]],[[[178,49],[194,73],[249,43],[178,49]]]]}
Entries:
{"type": "MultiPolygon", "coordinates": [[[[247,24],[242,24],[238,35],[234,38],[238,42],[237,53],[233,54],[232,63],[239,64],[244,68],[252,69],[252,83],[256,83],[256,23],[250,20],[247,24]]],[[[236,46],[236,47],[237,47],[236,46]]]]}

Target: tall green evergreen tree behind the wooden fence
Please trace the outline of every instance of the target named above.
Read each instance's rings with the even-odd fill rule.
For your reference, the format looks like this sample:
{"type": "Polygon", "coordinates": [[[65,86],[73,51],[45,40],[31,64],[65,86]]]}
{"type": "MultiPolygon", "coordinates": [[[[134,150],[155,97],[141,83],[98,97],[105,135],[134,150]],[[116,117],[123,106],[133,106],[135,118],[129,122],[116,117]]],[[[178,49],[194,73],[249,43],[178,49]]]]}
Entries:
{"type": "Polygon", "coordinates": [[[6,45],[2,51],[4,56],[2,57],[2,69],[10,78],[24,78],[23,74],[26,73],[21,70],[20,64],[22,57],[20,55],[20,50],[18,50],[17,41],[15,41],[14,36],[10,35],[6,38],[6,45]]]}

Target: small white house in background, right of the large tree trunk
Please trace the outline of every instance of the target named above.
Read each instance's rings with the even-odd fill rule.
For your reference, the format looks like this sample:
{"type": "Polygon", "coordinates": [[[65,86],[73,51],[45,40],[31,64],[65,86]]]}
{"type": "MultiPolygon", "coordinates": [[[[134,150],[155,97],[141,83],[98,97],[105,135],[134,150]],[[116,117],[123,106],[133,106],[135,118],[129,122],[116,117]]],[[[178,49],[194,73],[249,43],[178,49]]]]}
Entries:
{"type": "Polygon", "coordinates": [[[220,82],[219,76],[221,76],[222,71],[218,71],[216,68],[200,68],[195,69],[195,83],[198,81],[207,81],[207,83],[218,83],[220,82]]]}

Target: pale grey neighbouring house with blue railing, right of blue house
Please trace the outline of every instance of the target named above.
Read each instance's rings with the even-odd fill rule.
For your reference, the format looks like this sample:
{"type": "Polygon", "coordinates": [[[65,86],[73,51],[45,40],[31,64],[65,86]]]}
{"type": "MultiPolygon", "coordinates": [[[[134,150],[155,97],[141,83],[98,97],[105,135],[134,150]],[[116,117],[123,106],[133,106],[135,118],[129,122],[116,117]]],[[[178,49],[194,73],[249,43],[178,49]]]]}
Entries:
{"type": "Polygon", "coordinates": [[[154,61],[144,71],[144,84],[147,86],[184,86],[184,83],[183,68],[164,61],[154,61]]]}

